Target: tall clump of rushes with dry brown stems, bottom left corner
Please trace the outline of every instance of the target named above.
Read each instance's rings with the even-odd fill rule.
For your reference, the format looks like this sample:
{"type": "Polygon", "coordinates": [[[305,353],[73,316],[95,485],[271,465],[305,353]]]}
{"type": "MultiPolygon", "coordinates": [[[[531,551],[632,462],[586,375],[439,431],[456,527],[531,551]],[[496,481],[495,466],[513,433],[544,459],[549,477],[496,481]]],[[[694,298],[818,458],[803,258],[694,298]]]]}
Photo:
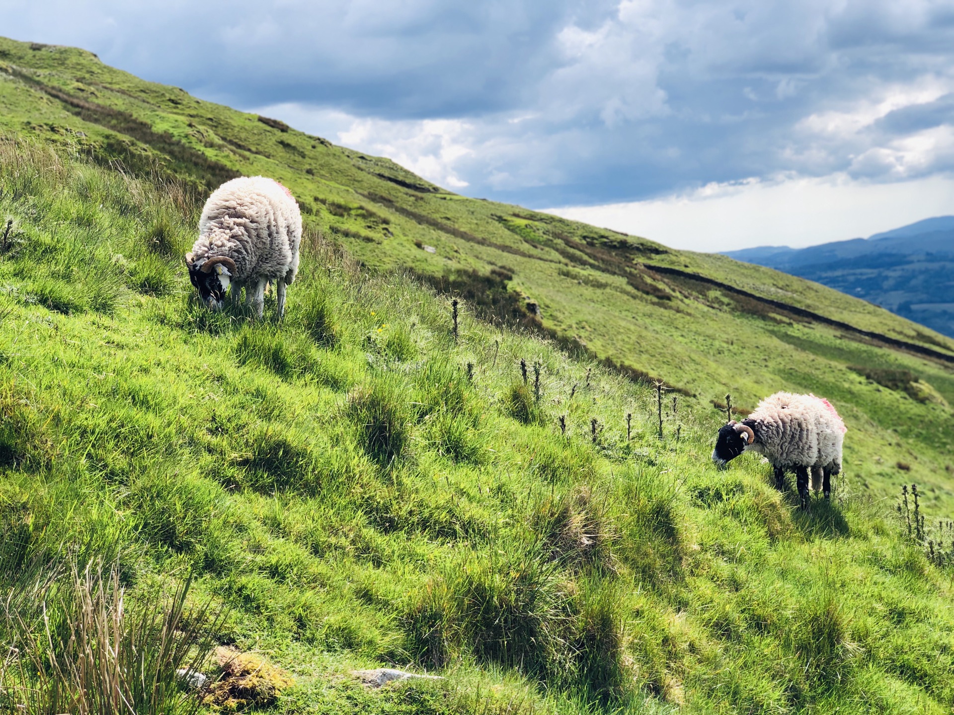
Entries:
{"type": "Polygon", "coordinates": [[[9,644],[0,705],[79,715],[198,712],[181,674],[203,667],[222,618],[208,603],[188,605],[190,585],[131,604],[117,565],[31,562],[10,585],[28,598],[4,598],[0,611],[9,644]]]}

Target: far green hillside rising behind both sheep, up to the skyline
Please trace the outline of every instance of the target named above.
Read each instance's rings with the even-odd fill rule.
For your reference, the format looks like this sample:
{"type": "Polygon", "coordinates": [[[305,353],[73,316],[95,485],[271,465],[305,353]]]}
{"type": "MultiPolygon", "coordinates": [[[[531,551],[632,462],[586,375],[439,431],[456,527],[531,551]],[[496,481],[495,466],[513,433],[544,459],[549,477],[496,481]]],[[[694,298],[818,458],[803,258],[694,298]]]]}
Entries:
{"type": "Polygon", "coordinates": [[[144,82],[85,51],[0,40],[0,107],[8,133],[139,174],[176,174],[198,193],[237,173],[275,176],[312,228],[364,264],[412,269],[483,315],[540,325],[706,401],[732,393],[752,408],[778,389],[824,394],[852,431],[847,468],[859,486],[885,495],[914,479],[939,508],[954,508],[954,342],[861,300],[451,194],[388,160],[144,82]],[[892,341],[909,348],[885,349],[892,341]]]}

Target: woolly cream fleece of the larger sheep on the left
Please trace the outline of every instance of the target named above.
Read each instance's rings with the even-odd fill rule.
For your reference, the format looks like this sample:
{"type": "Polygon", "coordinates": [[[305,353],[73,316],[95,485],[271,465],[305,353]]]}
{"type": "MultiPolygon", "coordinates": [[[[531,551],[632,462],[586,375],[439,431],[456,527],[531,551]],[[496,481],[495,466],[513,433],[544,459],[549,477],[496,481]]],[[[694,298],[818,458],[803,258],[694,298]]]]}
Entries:
{"type": "Polygon", "coordinates": [[[197,264],[216,255],[235,261],[239,279],[284,278],[291,283],[299,266],[301,211],[278,181],[240,176],[209,196],[198,220],[193,246],[197,264]]]}

